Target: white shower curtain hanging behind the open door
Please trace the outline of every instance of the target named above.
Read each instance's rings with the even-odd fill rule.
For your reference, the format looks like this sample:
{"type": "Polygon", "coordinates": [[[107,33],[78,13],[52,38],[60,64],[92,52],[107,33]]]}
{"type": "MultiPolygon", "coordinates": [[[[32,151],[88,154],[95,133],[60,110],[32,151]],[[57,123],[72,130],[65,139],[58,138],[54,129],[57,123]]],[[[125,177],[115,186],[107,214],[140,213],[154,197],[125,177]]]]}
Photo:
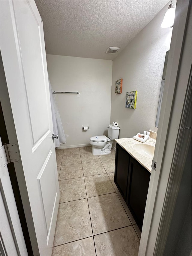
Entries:
{"type": "Polygon", "coordinates": [[[52,120],[53,120],[53,133],[54,135],[58,134],[58,139],[54,139],[55,148],[59,147],[60,144],[66,143],[66,138],[63,130],[63,125],[61,123],[61,117],[59,115],[58,107],[55,101],[55,97],[53,95],[53,90],[51,87],[51,83],[49,80],[49,92],[50,92],[50,99],[51,99],[51,113],[52,113],[52,120]]]}

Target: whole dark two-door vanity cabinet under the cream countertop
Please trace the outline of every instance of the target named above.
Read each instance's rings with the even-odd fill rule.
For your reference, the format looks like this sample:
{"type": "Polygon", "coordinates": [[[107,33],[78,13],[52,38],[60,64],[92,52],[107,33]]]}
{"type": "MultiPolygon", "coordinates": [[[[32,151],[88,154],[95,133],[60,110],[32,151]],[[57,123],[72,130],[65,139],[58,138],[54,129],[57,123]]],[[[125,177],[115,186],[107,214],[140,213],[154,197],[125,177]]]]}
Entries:
{"type": "Polygon", "coordinates": [[[143,225],[150,175],[151,173],[135,158],[116,144],[114,181],[140,230],[143,225]]]}

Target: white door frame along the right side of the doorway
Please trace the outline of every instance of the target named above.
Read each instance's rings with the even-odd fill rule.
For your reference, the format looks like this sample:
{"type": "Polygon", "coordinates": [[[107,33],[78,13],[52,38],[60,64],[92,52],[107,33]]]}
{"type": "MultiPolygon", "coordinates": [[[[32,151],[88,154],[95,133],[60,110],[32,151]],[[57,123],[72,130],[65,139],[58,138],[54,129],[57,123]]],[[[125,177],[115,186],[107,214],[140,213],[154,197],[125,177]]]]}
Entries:
{"type": "Polygon", "coordinates": [[[164,252],[191,140],[190,81],[191,2],[186,0],[176,6],[139,256],[164,252]]]}

